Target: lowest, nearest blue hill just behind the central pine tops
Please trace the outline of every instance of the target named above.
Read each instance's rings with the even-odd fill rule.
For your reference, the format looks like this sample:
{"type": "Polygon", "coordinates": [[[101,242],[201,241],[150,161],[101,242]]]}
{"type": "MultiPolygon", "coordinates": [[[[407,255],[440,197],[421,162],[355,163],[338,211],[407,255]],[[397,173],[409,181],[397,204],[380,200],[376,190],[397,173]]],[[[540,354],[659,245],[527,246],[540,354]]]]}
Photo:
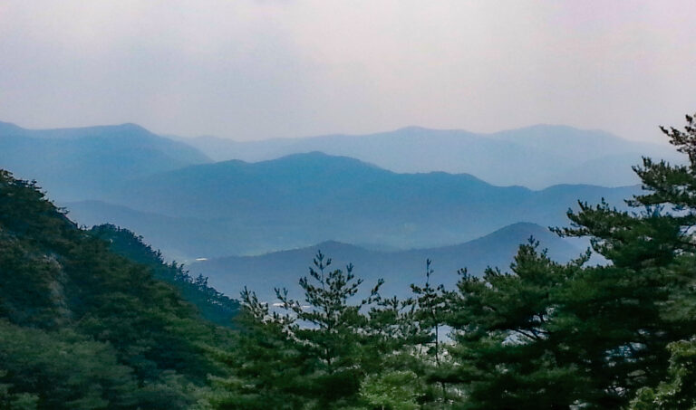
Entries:
{"type": "Polygon", "coordinates": [[[435,270],[433,281],[453,285],[457,271],[466,267],[479,274],[487,266],[507,269],[521,243],[533,236],[542,249],[556,261],[568,261],[583,251],[565,242],[556,234],[537,224],[512,224],[492,234],[467,243],[401,252],[377,252],[360,246],[335,241],[300,249],[267,253],[259,256],[225,257],[195,262],[191,272],[204,272],[219,291],[235,297],[244,286],[256,291],[263,300],[273,300],[274,288],[286,287],[299,295],[297,281],[306,276],[314,254],[321,250],[333,258],[333,269],[344,269],[352,262],[354,273],[371,287],[379,278],[385,279],[384,294],[405,296],[411,283],[425,280],[425,261],[430,258],[435,270]]]}

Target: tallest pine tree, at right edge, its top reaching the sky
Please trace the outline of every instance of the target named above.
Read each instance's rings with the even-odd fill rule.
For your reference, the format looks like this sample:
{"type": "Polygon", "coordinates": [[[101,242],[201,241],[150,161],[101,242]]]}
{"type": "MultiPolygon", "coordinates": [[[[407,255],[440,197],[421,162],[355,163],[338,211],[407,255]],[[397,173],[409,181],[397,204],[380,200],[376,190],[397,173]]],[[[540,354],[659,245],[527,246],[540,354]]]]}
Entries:
{"type": "MultiPolygon", "coordinates": [[[[627,201],[640,212],[630,214],[606,204],[581,204],[569,213],[574,228],[562,234],[592,238],[594,251],[611,266],[589,270],[592,295],[579,299],[575,317],[592,315],[586,338],[594,346],[590,376],[603,400],[625,404],[643,385],[656,386],[666,377],[668,345],[690,338],[696,317],[689,313],[696,300],[696,128],[664,129],[686,165],[643,158],[633,169],[643,181],[644,194],[627,201]],[[608,355],[608,356],[607,356],[608,355]]],[[[589,287],[588,287],[589,289],[589,287]]],[[[694,310],[691,310],[693,313],[694,310]]]]}

